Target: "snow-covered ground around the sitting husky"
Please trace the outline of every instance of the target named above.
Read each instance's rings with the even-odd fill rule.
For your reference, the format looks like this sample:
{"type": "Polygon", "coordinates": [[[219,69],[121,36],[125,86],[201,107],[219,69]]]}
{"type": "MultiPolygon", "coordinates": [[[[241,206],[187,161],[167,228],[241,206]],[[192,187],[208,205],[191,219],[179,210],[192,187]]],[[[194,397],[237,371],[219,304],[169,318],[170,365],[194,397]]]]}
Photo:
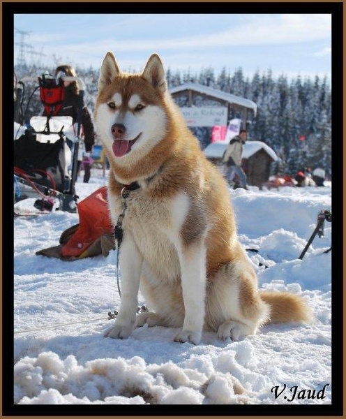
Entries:
{"type": "MultiPolygon", "coordinates": [[[[106,182],[93,169],[89,184],[78,179],[77,195],[106,182]]],[[[331,185],[250,186],[230,190],[230,199],[243,247],[258,250],[248,256],[260,288],[302,295],[313,324],[267,325],[241,341],[204,332],[198,346],[174,342],[176,330],[162,327],[144,326],[126,340],[104,338],[114,322],[108,311],[119,309],[116,252],[73,262],[36,256],[59,244],[78,215],[18,217],[14,404],[331,404],[332,252],[323,253],[331,247],[331,223],[299,260],[317,212],[331,210],[331,185]]]]}

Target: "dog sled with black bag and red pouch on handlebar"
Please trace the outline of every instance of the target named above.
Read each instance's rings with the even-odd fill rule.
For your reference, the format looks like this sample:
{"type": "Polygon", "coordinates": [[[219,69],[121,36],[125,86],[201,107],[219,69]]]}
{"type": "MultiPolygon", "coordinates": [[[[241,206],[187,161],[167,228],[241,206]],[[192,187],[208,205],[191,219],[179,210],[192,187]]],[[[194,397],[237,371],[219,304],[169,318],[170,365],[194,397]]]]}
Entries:
{"type": "Polygon", "coordinates": [[[38,198],[33,204],[36,213],[50,212],[57,201],[57,210],[76,212],[78,197],[75,194],[75,182],[84,83],[80,78],[63,73],[59,73],[56,78],[49,74],[38,77],[36,89],[40,89],[40,101],[47,117],[31,117],[27,127],[24,126],[25,112],[22,110],[22,89],[25,81],[33,79],[24,78],[15,87],[15,214],[27,214],[26,210],[20,211],[23,207],[20,201],[27,198],[38,198]],[[77,80],[80,85],[80,110],[75,125],[72,117],[57,116],[64,98],[64,80],[77,80]]]}

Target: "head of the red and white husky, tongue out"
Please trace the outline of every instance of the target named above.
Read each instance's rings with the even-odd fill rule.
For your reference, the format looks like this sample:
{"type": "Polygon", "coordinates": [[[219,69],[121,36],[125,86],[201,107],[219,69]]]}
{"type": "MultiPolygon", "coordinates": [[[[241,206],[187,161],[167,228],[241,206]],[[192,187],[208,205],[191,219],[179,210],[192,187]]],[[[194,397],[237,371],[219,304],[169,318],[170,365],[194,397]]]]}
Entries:
{"type": "Polygon", "coordinates": [[[121,73],[107,52],[100,68],[95,121],[107,151],[127,165],[145,156],[167,131],[165,71],[157,54],[142,74],[121,73]]]}

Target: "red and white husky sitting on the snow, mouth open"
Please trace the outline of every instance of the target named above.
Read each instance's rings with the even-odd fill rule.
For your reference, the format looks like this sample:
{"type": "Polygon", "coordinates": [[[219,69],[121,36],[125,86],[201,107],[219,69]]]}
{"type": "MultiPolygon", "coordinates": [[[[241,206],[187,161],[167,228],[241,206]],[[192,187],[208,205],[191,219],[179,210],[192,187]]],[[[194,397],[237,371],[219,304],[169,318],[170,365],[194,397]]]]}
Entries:
{"type": "Polygon", "coordinates": [[[142,74],[128,74],[107,52],[95,120],[110,161],[114,225],[121,190],[137,187],[123,218],[119,315],[105,336],[124,339],[148,323],[180,328],[175,341],[198,344],[202,330],[236,340],[268,321],[310,319],[300,297],[258,291],[227,184],[174,104],[157,54],[142,74]],[[153,311],[136,316],[139,288],[153,311]]]}

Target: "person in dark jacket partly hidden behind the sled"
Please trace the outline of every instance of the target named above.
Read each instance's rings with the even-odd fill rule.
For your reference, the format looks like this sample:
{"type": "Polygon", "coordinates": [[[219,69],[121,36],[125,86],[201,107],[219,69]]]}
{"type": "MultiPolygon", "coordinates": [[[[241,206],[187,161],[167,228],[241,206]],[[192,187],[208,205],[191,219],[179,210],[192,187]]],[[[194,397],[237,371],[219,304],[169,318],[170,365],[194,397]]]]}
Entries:
{"type": "MultiPolygon", "coordinates": [[[[55,69],[56,76],[61,72],[66,74],[67,76],[76,77],[75,68],[73,68],[72,66],[69,66],[68,64],[63,64],[61,66],[58,66],[55,69]]],[[[65,87],[65,98],[63,99],[63,105],[61,109],[59,110],[59,112],[57,113],[57,116],[72,117],[73,124],[76,124],[77,117],[78,117],[79,99],[80,99],[78,83],[77,83],[77,80],[74,80],[72,82],[64,81],[63,84],[65,87]]],[[[44,111],[43,115],[47,116],[47,112],[44,111]]],[[[83,182],[87,183],[89,182],[90,169],[91,169],[90,166],[88,166],[87,162],[89,161],[89,157],[91,156],[91,152],[93,149],[93,144],[95,143],[95,134],[94,134],[91,115],[84,102],[82,105],[81,123],[82,123],[82,128],[83,128],[82,132],[84,135],[84,145],[80,144],[80,149],[83,149],[83,153],[82,153],[82,157],[78,158],[77,170],[79,169],[82,161],[85,160],[85,164],[83,163],[83,166],[84,166],[83,182]]]]}

